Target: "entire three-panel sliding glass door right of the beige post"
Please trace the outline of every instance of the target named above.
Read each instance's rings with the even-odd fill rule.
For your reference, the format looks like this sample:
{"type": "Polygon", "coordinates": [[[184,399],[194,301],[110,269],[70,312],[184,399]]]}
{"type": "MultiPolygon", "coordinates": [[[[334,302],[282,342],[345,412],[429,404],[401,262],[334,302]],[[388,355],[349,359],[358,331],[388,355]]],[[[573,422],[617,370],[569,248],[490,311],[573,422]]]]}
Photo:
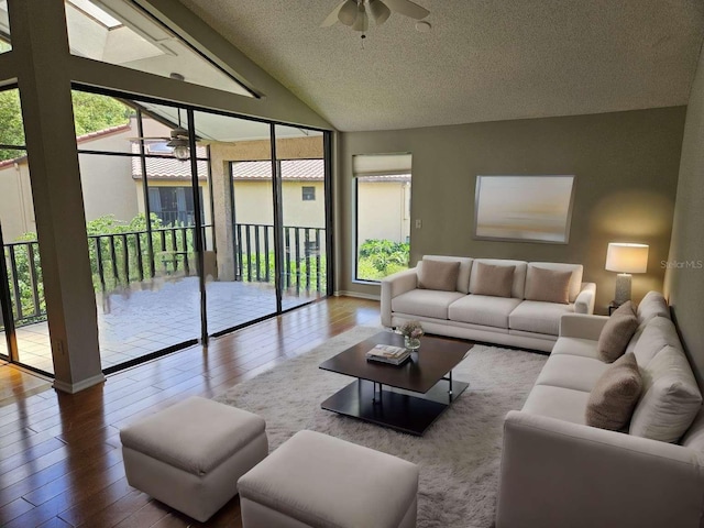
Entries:
{"type": "Polygon", "coordinates": [[[106,372],[328,293],[322,132],[76,91],[106,372]],[[103,112],[100,114],[100,112],[103,112]]]}

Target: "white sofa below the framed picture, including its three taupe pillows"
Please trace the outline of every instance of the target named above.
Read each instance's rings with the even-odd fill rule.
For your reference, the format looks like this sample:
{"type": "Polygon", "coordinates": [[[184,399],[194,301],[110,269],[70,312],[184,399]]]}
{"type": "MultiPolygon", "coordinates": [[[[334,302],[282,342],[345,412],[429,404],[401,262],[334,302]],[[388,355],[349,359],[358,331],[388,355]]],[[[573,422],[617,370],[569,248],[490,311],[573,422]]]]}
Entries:
{"type": "Polygon", "coordinates": [[[426,255],[382,280],[382,324],[419,320],[429,333],[550,352],[563,315],[594,311],[596,285],[582,273],[581,264],[426,255]],[[450,287],[433,280],[442,263],[457,266],[450,287]],[[508,273],[503,292],[495,272],[508,273]]]}

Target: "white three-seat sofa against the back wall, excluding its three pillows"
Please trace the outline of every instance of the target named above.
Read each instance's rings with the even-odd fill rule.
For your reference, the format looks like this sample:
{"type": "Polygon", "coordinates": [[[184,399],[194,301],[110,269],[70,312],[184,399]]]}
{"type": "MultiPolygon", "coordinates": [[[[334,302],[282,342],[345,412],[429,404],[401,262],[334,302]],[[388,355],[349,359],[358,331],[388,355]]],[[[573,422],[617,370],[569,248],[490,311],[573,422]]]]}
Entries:
{"type": "Polygon", "coordinates": [[[550,352],[564,314],[593,314],[596,285],[582,283],[581,264],[426,255],[424,260],[460,262],[454,292],[418,287],[422,261],[382,280],[382,324],[419,320],[426,332],[550,352]],[[515,266],[510,297],[475,295],[477,263],[515,266]],[[531,268],[571,271],[569,304],[526,300],[531,268]]]}

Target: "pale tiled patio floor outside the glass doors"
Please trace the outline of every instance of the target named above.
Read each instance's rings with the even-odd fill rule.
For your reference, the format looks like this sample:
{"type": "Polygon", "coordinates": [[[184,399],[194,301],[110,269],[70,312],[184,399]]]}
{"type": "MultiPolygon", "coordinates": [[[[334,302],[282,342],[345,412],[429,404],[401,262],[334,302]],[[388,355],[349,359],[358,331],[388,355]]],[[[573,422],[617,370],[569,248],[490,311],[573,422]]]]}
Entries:
{"type": "MultiPolygon", "coordinates": [[[[284,309],[318,298],[316,292],[285,293],[284,309]]],[[[226,330],[276,310],[268,284],[211,282],[206,287],[208,333],[226,330]]],[[[97,295],[102,367],[200,337],[198,278],[156,279],[129,290],[97,295]]],[[[2,339],[4,333],[0,332],[2,339]]],[[[46,322],[16,330],[20,362],[53,373],[46,322]]],[[[4,352],[4,348],[0,349],[4,352]]]]}

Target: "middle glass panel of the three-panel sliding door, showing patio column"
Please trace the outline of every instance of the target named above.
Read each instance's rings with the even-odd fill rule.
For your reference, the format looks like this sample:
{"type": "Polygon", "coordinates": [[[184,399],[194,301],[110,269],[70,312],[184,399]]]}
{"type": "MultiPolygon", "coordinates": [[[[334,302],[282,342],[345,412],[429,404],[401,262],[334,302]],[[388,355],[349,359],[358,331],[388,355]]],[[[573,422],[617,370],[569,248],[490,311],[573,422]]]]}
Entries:
{"type": "Polygon", "coordinates": [[[271,128],[267,123],[195,112],[204,175],[208,333],[276,314],[271,128]]]}

